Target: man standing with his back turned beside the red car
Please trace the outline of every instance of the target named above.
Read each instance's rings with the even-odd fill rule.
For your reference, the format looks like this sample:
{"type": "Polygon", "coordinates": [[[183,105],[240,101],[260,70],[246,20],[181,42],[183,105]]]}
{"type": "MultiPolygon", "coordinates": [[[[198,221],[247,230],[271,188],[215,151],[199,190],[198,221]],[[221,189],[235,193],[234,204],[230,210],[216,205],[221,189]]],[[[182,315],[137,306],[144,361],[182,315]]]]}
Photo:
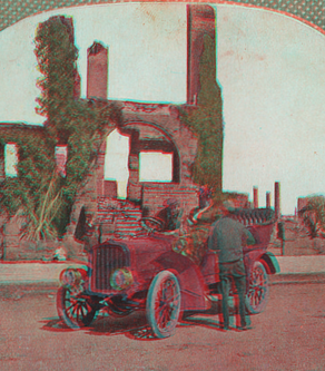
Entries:
{"type": "Polygon", "coordinates": [[[253,245],[255,240],[245,226],[233,219],[230,211],[221,206],[223,217],[211,225],[208,248],[215,250],[219,261],[219,277],[223,294],[223,316],[224,330],[229,329],[228,297],[232,281],[235,282],[239,299],[239,330],[248,330],[250,319],[246,319],[245,294],[246,294],[246,272],[243,261],[243,244],[253,245]]]}

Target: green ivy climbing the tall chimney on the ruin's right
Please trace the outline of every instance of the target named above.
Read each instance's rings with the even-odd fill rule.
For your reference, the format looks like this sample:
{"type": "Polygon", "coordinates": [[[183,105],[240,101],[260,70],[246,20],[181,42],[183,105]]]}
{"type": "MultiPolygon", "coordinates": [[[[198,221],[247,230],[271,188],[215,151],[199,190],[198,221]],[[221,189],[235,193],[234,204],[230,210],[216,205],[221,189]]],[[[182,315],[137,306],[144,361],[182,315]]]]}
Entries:
{"type": "Polygon", "coordinates": [[[193,179],[208,185],[215,197],[221,194],[223,178],[223,99],[215,77],[214,40],[205,35],[204,52],[199,62],[200,91],[197,106],[180,110],[180,119],[198,138],[198,150],[193,165],[193,179]]]}

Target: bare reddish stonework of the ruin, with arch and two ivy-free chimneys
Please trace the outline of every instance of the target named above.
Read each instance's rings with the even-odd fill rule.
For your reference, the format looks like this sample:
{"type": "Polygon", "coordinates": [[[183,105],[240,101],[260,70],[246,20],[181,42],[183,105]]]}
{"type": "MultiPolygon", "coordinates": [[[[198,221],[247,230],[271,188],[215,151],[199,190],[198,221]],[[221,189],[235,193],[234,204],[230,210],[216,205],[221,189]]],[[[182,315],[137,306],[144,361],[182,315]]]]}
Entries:
{"type": "MultiPolygon", "coordinates": [[[[200,90],[199,60],[204,51],[204,35],[215,40],[215,12],[209,6],[187,6],[187,105],[196,105],[200,90]]],[[[213,66],[215,69],[216,66],[213,66]]],[[[107,98],[108,52],[99,42],[88,49],[87,98],[107,98]]],[[[198,206],[198,186],[191,179],[191,166],[197,153],[197,138],[179,118],[175,105],[141,104],[134,101],[117,102],[122,113],[122,124],[118,126],[122,135],[130,138],[127,185],[127,199],[140,205],[146,215],[155,215],[166,198],[176,198],[188,213],[198,206]],[[173,179],[170,183],[139,180],[139,154],[141,152],[162,152],[173,154],[173,179]]],[[[109,134],[109,133],[108,133],[109,134]]],[[[106,139],[102,138],[96,163],[80,189],[71,213],[67,236],[72,236],[81,208],[96,208],[98,199],[116,198],[116,188],[105,180],[106,139]]],[[[128,204],[130,207],[130,204],[128,204]]]]}

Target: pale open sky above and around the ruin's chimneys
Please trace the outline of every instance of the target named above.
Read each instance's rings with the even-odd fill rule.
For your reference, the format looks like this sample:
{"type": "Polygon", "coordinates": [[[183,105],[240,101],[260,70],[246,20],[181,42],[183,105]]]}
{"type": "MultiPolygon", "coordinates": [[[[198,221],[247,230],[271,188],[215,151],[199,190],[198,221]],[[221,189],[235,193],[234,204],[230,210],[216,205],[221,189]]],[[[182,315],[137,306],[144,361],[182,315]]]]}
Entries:
{"type": "MultiPolygon", "coordinates": [[[[224,191],[259,206],[280,182],[282,212],[325,184],[325,36],[272,11],[218,4],[217,81],[224,100],[224,191]]],[[[0,123],[41,125],[35,113],[37,25],[73,17],[81,95],[87,48],[109,47],[108,98],[186,100],[185,4],[121,3],[65,8],[29,17],[0,32],[0,123]]],[[[122,139],[119,139],[125,141],[122,139]]]]}

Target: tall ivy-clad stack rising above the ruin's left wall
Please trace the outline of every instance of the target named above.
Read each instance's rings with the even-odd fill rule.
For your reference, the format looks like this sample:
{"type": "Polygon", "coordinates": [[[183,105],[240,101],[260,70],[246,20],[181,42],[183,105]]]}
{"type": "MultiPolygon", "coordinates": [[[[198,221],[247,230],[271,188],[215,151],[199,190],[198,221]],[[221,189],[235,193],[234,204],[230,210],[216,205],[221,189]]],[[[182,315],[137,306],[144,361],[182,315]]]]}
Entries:
{"type": "Polygon", "coordinates": [[[78,50],[73,45],[72,23],[65,17],[51,17],[38,26],[35,42],[38,69],[42,74],[37,84],[41,90],[37,113],[47,117],[51,139],[67,140],[73,129],[71,118],[78,115],[73,99],[78,50]]]}

